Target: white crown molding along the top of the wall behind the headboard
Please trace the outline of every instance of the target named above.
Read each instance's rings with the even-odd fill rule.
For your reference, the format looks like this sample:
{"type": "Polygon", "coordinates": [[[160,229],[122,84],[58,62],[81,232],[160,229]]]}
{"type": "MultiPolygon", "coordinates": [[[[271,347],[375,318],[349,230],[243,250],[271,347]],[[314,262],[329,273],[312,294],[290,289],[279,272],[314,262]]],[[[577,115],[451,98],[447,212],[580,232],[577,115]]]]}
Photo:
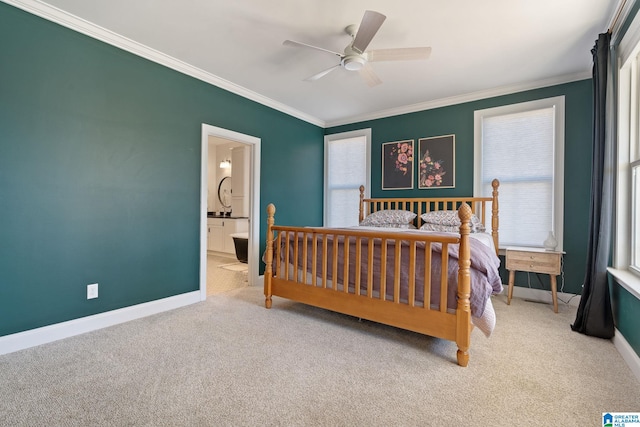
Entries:
{"type": "Polygon", "coordinates": [[[468,94],[452,96],[449,98],[436,99],[433,101],[420,102],[412,105],[405,105],[397,108],[390,108],[387,110],[381,110],[373,113],[367,113],[359,116],[352,116],[344,119],[338,119],[326,122],[326,128],[333,126],[349,125],[359,122],[365,122],[368,120],[384,119],[392,116],[399,116],[402,114],[415,113],[418,111],[431,110],[434,108],[448,107],[451,105],[463,104],[465,102],[479,101],[487,98],[494,98],[496,96],[510,95],[517,92],[523,92],[526,90],[540,89],[548,86],[555,86],[563,83],[571,83],[578,80],[585,80],[591,78],[591,72],[585,71],[582,73],[567,74],[564,76],[553,77],[550,79],[540,80],[537,82],[522,83],[517,85],[502,86],[489,90],[483,90],[479,92],[472,92],[468,94]]]}

